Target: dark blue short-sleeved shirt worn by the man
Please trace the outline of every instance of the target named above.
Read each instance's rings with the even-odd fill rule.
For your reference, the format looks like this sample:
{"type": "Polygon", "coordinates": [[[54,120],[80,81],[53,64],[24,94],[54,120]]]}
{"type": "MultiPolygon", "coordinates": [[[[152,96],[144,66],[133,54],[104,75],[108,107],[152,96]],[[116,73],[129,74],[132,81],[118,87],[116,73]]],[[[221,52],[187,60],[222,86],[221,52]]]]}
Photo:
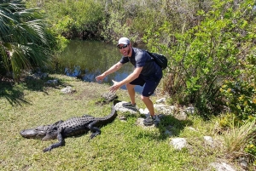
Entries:
{"type": "Polygon", "coordinates": [[[153,76],[155,73],[161,73],[162,70],[154,61],[152,57],[143,49],[132,48],[131,57],[123,56],[120,63],[125,64],[131,62],[136,67],[143,67],[141,74],[143,77],[153,76]]]}

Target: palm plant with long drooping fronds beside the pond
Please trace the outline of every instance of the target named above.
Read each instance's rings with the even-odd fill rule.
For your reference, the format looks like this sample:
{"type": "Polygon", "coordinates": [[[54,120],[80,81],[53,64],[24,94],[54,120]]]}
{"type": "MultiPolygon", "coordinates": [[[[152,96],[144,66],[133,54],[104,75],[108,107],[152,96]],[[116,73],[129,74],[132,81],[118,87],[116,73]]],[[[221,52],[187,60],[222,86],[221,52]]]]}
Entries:
{"type": "Polygon", "coordinates": [[[21,71],[49,64],[55,45],[38,9],[26,9],[20,0],[0,1],[2,74],[10,71],[17,80],[21,71]]]}

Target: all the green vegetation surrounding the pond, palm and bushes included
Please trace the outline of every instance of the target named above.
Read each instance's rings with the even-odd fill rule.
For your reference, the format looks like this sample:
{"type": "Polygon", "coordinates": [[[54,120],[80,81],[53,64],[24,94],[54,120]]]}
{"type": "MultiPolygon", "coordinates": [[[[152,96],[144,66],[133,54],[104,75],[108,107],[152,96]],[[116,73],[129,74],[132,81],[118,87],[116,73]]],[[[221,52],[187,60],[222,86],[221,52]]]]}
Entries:
{"type": "MultiPolygon", "coordinates": [[[[3,0],[1,81],[54,67],[70,38],[130,37],[168,57],[161,93],[170,104],[192,104],[208,121],[218,116],[222,131],[244,128],[256,115],[255,10],[253,0],[3,0]]],[[[2,90],[1,97],[9,95],[2,90]]],[[[253,165],[255,132],[247,135],[230,151],[253,165]]]]}

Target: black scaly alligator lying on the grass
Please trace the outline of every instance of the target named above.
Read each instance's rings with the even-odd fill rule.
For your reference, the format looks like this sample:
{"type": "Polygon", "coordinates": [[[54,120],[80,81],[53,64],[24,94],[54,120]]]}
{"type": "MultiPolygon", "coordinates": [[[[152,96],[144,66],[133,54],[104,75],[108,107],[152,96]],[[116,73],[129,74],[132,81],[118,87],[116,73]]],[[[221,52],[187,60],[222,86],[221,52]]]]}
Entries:
{"type": "Polygon", "coordinates": [[[83,115],[82,117],[72,117],[67,121],[58,121],[53,124],[38,126],[37,128],[24,129],[20,131],[20,135],[27,139],[41,139],[41,140],[55,140],[58,142],[44,149],[44,152],[51,151],[54,148],[65,145],[65,138],[71,136],[79,136],[87,132],[90,134],[90,140],[101,134],[100,127],[112,123],[117,112],[114,105],[119,100],[113,101],[112,111],[106,117],[92,117],[90,115],[83,115]]]}

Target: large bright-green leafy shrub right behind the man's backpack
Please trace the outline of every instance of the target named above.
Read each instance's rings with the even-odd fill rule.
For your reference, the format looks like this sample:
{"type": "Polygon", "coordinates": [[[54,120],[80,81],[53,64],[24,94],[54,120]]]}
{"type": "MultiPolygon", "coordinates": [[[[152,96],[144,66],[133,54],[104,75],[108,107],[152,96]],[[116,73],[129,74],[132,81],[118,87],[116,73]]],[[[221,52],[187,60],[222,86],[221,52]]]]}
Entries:
{"type": "Polygon", "coordinates": [[[170,56],[169,71],[165,84],[166,92],[178,94],[179,99],[193,103],[201,114],[217,111],[222,105],[219,88],[226,79],[240,76],[238,60],[244,61],[253,55],[255,47],[254,1],[239,5],[233,1],[214,1],[212,10],[198,12],[204,19],[200,25],[184,33],[173,35],[170,24],[164,23],[159,32],[176,43],[159,43],[158,36],[148,39],[151,47],[170,56]],[[169,54],[169,55],[168,55],[169,54]]]}

